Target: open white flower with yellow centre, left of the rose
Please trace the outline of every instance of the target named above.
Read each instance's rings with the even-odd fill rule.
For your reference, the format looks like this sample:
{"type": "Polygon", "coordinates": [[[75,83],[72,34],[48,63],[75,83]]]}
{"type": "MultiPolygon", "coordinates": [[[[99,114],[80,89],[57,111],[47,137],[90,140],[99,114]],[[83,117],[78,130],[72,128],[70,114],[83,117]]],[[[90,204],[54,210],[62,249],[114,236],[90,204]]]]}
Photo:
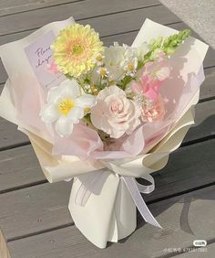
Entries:
{"type": "Polygon", "coordinates": [[[95,104],[96,98],[82,94],[76,80],[66,80],[48,91],[47,103],[40,114],[46,124],[56,123],[56,133],[64,137],[72,134],[73,124],[84,117],[85,109],[95,104]]]}

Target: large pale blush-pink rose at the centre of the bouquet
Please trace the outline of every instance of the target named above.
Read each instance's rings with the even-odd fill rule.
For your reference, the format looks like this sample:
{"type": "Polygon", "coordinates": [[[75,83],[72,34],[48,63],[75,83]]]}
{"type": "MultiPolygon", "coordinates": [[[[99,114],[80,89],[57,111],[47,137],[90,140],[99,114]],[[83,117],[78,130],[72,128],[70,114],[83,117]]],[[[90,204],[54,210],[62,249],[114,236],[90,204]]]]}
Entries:
{"type": "Polygon", "coordinates": [[[91,109],[91,121],[110,137],[119,138],[137,128],[140,112],[136,103],[128,100],[125,91],[109,86],[99,91],[97,105],[91,109]]]}

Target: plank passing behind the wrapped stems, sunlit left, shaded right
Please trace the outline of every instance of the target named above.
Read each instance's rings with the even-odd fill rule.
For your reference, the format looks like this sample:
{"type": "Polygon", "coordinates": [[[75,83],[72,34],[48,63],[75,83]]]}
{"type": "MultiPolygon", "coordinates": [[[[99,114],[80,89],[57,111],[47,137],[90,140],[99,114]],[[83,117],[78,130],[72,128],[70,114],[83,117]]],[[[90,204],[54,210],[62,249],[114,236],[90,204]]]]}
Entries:
{"type": "MultiPolygon", "coordinates": [[[[143,195],[144,199],[154,202],[215,182],[214,144],[215,140],[190,145],[172,154],[168,166],[154,173],[156,189],[150,195],[143,195]]],[[[18,160],[16,166],[17,164],[18,160]]],[[[36,164],[33,160],[26,169],[36,164]]],[[[15,177],[15,168],[11,173],[15,177]]],[[[22,184],[20,178],[15,178],[17,183],[22,184]]],[[[2,179],[0,182],[4,184],[2,179]]],[[[0,195],[0,225],[6,239],[72,223],[67,210],[70,188],[71,185],[67,182],[46,183],[0,195]]]]}

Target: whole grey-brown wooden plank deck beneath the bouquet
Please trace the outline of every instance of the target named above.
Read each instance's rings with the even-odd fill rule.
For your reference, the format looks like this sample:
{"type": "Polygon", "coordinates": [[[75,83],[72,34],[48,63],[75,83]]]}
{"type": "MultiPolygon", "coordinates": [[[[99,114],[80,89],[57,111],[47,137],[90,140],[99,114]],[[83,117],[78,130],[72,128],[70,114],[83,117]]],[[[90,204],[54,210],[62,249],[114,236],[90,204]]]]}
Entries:
{"type": "MultiPolygon", "coordinates": [[[[1,0],[0,45],[68,16],[95,27],[106,45],[130,44],[146,17],[177,29],[187,27],[158,0],[1,0]]],[[[0,228],[11,257],[214,257],[215,51],[211,48],[204,68],[196,125],[170,156],[168,166],[154,173],[156,190],[144,196],[164,230],[138,217],[137,231],[105,250],[97,249],[74,226],[67,209],[70,183],[47,183],[26,136],[0,119],[0,228]],[[207,252],[189,250],[198,239],[208,242],[207,252]]],[[[1,90],[6,78],[0,64],[1,90]]],[[[0,257],[7,257],[1,253],[3,249],[0,257]]]]}

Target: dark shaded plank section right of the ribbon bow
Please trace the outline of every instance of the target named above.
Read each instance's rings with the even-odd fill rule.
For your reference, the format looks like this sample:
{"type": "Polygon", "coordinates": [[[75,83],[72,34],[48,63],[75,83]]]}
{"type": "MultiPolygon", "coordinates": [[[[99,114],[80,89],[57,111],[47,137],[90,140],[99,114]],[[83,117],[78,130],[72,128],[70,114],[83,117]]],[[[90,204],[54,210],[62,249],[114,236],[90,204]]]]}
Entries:
{"type": "Polygon", "coordinates": [[[144,199],[151,202],[215,182],[215,139],[179,148],[166,167],[152,174],[155,190],[144,199]]]}

